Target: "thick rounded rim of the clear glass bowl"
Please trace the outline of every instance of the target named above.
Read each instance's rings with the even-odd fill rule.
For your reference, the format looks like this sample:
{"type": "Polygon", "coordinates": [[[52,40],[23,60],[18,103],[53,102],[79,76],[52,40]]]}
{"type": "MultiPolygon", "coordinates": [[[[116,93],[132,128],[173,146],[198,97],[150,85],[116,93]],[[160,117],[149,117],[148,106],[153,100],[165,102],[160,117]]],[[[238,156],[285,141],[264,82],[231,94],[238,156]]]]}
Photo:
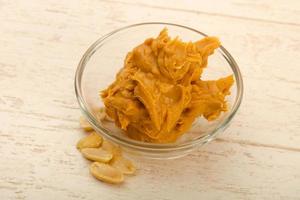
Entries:
{"type": "Polygon", "coordinates": [[[198,33],[202,36],[207,36],[206,34],[194,29],[190,28],[184,25],[179,25],[175,23],[168,23],[168,22],[144,22],[144,23],[137,23],[137,24],[132,24],[128,26],[124,26],[122,28],[116,29],[102,37],[100,37],[98,40],[96,40],[83,54],[78,66],[77,70],[75,73],[75,94],[76,98],[79,104],[79,107],[83,113],[83,115],[86,117],[88,122],[93,126],[96,132],[101,132],[104,137],[111,139],[112,141],[125,146],[129,147],[131,149],[139,149],[139,150],[147,150],[147,151],[172,151],[172,150],[179,150],[179,149],[190,149],[193,146],[198,146],[199,144],[206,143],[209,141],[211,138],[214,138],[216,134],[219,132],[219,130],[223,129],[228,125],[228,123],[232,120],[234,115],[236,114],[238,108],[241,105],[242,102],[242,97],[243,97],[243,79],[242,79],[242,74],[240,72],[240,69],[234,60],[234,58],[231,56],[231,54],[221,45],[219,47],[220,53],[222,56],[225,58],[225,60],[228,62],[230,65],[234,78],[236,80],[236,86],[237,86],[237,94],[236,98],[234,101],[234,104],[232,105],[230,109],[230,113],[226,116],[224,121],[220,124],[217,125],[217,127],[209,132],[208,134],[204,135],[203,137],[199,137],[195,140],[192,141],[187,141],[183,142],[180,144],[176,143],[166,143],[166,144],[157,144],[157,143],[146,143],[146,142],[141,142],[137,140],[133,140],[131,138],[121,138],[115,135],[111,135],[109,131],[107,131],[105,128],[101,127],[101,125],[97,122],[96,118],[93,116],[93,114],[88,110],[87,108],[87,103],[85,102],[83,96],[82,96],[82,91],[81,91],[81,80],[82,80],[82,75],[86,66],[86,63],[89,61],[90,57],[96,52],[98,48],[102,46],[102,43],[108,39],[110,36],[134,27],[139,27],[139,26],[145,26],[145,25],[166,25],[166,26],[175,26],[175,27],[180,27],[184,29],[188,29],[190,31],[193,31],[195,33],[198,33]]]}

